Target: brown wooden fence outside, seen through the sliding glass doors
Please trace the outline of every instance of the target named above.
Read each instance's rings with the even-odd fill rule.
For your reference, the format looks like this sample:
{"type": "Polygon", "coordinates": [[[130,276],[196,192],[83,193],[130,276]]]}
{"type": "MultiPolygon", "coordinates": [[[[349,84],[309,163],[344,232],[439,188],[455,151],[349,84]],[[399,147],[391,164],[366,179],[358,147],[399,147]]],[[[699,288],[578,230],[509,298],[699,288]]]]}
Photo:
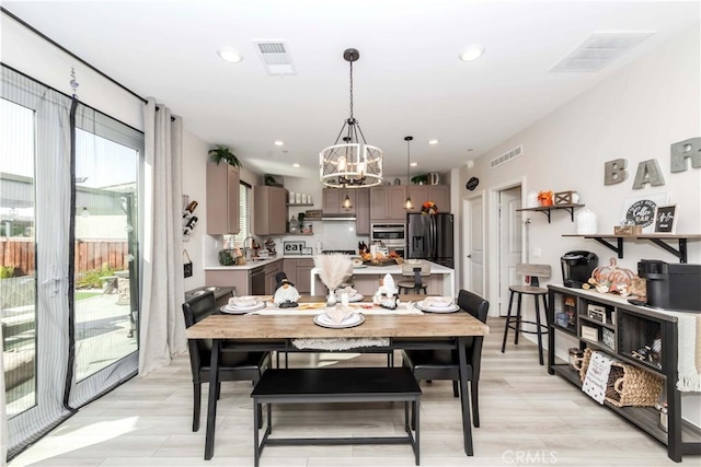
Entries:
{"type": "MultiPolygon", "coordinates": [[[[76,272],[102,269],[127,269],[126,241],[78,240],[76,242],[76,272]]],[[[14,277],[34,275],[34,238],[0,238],[0,266],[14,267],[14,277]]]]}

